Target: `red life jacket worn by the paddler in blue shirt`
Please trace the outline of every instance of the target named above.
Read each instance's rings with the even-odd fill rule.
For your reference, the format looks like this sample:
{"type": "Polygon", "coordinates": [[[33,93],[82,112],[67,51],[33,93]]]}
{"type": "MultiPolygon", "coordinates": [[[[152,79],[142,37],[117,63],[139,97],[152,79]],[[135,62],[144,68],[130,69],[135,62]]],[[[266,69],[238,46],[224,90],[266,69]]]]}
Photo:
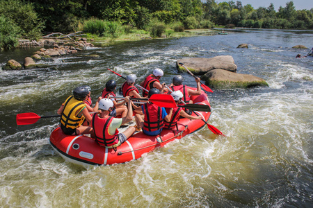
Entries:
{"type": "Polygon", "coordinates": [[[145,114],[145,119],[143,122],[144,130],[154,132],[163,128],[161,107],[153,103],[145,103],[143,105],[143,114],[145,114]]]}

